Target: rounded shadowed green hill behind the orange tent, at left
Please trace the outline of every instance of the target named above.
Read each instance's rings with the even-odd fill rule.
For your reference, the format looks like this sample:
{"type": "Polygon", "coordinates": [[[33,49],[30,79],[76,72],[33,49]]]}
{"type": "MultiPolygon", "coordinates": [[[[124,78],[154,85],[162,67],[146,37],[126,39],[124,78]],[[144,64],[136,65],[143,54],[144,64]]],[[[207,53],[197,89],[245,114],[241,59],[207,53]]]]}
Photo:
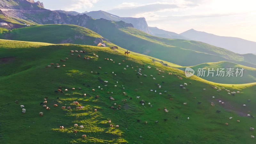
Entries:
{"type": "Polygon", "coordinates": [[[71,43],[97,45],[96,38],[102,38],[94,31],[76,25],[36,25],[33,27],[13,29],[9,33],[2,34],[5,39],[47,42],[52,44],[71,43]]]}

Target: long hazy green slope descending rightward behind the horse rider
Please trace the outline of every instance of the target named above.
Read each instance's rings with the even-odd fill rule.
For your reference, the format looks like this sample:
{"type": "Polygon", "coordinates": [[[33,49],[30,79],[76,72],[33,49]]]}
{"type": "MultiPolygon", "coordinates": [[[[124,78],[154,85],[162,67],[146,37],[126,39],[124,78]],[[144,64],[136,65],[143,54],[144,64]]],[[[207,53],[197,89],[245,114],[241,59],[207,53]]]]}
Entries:
{"type": "Polygon", "coordinates": [[[111,21],[94,20],[86,28],[133,52],[146,54],[182,66],[201,64],[202,62],[229,61],[256,68],[253,55],[237,54],[223,48],[202,42],[181,39],[167,39],[149,35],[132,27],[112,28],[111,21]],[[97,29],[95,29],[97,25],[97,29]],[[131,43],[132,42],[132,43],[131,43]]]}

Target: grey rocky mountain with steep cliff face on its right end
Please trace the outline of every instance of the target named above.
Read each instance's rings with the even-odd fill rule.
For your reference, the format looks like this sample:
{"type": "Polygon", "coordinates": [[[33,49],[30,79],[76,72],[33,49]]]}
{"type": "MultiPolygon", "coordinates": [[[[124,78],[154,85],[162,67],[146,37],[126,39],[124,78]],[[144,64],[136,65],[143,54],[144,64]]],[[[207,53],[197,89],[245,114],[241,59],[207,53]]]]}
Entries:
{"type": "Polygon", "coordinates": [[[106,20],[113,20],[113,21],[124,21],[126,23],[131,23],[134,28],[137,28],[141,31],[144,31],[149,34],[148,23],[145,18],[132,18],[132,17],[119,17],[117,15],[104,12],[104,11],[92,11],[87,12],[86,15],[91,16],[94,19],[106,19],[106,20]]]}

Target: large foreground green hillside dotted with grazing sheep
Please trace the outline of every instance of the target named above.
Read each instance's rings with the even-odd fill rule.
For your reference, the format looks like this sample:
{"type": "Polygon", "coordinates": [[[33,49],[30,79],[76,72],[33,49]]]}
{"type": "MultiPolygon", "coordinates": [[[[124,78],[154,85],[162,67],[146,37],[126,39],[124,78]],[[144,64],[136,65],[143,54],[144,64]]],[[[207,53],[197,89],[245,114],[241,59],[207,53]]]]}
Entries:
{"type": "Polygon", "coordinates": [[[121,49],[114,51],[109,47],[0,40],[0,142],[254,143],[251,135],[255,136],[256,132],[249,129],[255,128],[255,119],[246,115],[248,111],[255,115],[256,83],[217,84],[196,76],[186,78],[183,71],[165,67],[148,56],[136,53],[125,56],[123,53],[121,49]],[[74,52],[72,56],[70,50],[86,53],[74,52]],[[78,54],[81,57],[77,57],[78,54]],[[87,56],[92,59],[85,60],[87,56]],[[68,60],[60,61],[65,58],[68,60]],[[54,65],[45,68],[51,63],[54,65]],[[60,68],[54,68],[56,63],[60,64],[60,68]],[[148,69],[148,66],[151,68],[148,69]],[[137,74],[139,68],[142,76],[137,74]],[[156,68],[165,73],[158,75],[156,68]],[[168,75],[169,72],[172,75],[168,75]],[[180,88],[179,85],[184,83],[188,84],[186,89],[180,88]],[[161,89],[157,84],[161,85],[161,89]],[[63,93],[54,92],[59,86],[62,86],[63,93]],[[232,96],[225,90],[217,92],[212,86],[240,93],[232,96]],[[206,90],[203,91],[203,88],[206,90]],[[95,91],[92,92],[92,89],[95,91]],[[156,92],[151,92],[151,89],[156,92]],[[160,92],[162,95],[159,95],[160,92]],[[97,95],[99,98],[95,99],[97,95]],[[115,100],[110,100],[110,96],[115,100]],[[136,96],[140,98],[136,99],[136,96]],[[48,97],[46,106],[51,110],[40,105],[45,97],[48,97]],[[248,102],[248,99],[251,101],[248,102]],[[145,107],[140,100],[145,100],[145,107]],[[221,104],[219,100],[225,103],[221,104]],[[77,110],[73,101],[78,101],[84,108],[77,110]],[[211,106],[211,102],[215,106],[211,106]],[[20,105],[25,106],[26,113],[21,112],[20,105]],[[121,106],[120,110],[110,108],[118,108],[117,105],[121,106]],[[61,109],[62,106],[66,108],[61,109]],[[169,112],[165,112],[164,108],[169,112]],[[221,112],[216,113],[216,110],[221,112]],[[39,112],[43,112],[43,116],[39,116],[39,112]],[[119,128],[111,128],[110,119],[110,124],[119,125],[119,128]],[[167,121],[164,122],[164,119],[167,121]],[[148,123],[145,124],[145,121],[148,123]],[[83,125],[84,129],[75,128],[74,124],[83,125]],[[85,139],[82,139],[83,134],[87,135],[85,139]]]}

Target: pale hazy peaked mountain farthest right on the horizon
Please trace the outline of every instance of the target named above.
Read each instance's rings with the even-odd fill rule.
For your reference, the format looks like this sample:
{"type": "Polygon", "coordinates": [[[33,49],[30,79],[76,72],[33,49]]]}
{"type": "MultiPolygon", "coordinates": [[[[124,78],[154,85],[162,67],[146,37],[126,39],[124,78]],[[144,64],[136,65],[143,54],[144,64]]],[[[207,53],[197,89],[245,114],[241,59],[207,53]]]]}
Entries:
{"type": "Polygon", "coordinates": [[[222,47],[232,52],[245,54],[256,53],[256,42],[248,41],[238,37],[217,36],[202,31],[189,29],[180,35],[191,40],[204,42],[214,46],[222,47]]]}

